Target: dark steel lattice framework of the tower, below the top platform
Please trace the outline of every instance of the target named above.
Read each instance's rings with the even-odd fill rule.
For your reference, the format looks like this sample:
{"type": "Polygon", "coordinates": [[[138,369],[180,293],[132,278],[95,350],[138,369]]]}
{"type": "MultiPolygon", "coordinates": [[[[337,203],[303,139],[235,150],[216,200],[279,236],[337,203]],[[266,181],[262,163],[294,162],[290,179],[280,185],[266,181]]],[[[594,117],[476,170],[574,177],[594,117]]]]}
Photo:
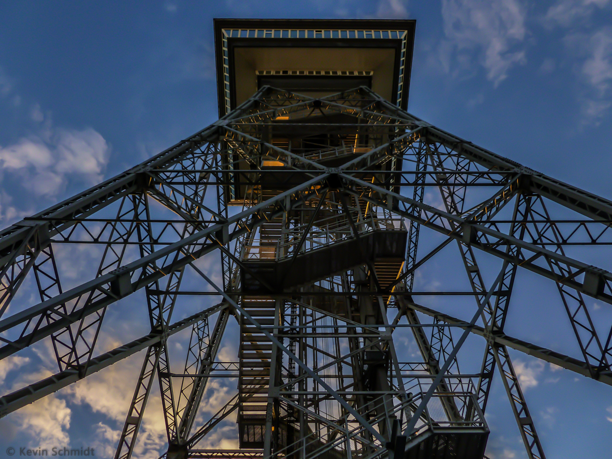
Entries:
{"type": "Polygon", "coordinates": [[[409,451],[440,432],[486,431],[482,412],[497,368],[528,456],[543,458],[508,349],[612,384],[612,327],[594,324],[585,302],[612,303],[612,274],[580,253],[586,245],[610,245],[610,223],[612,202],[450,135],[367,88],[312,99],[265,87],[154,158],[0,233],[0,358],[49,341],[58,364],[50,378],[1,397],[0,413],[146,349],[117,458],[133,452],[154,379],[169,458],[374,458],[400,446],[409,451]],[[302,138],[324,132],[342,144],[292,148],[274,138],[279,125],[302,138]],[[270,177],[280,177],[274,193],[266,191],[270,177]],[[438,206],[427,203],[431,190],[439,193],[438,206]],[[278,245],[264,237],[271,222],[283,228],[278,245]],[[290,272],[300,256],[340,242],[356,241],[365,251],[384,225],[405,228],[407,236],[405,262],[386,283],[374,259],[287,287],[272,285],[248,263],[250,254],[255,261],[284,257],[290,272]],[[424,253],[424,234],[442,242],[424,253]],[[57,252],[70,244],[99,248],[97,271],[62,289],[57,252]],[[414,289],[415,274],[448,245],[459,249],[469,289],[447,293],[474,299],[464,318],[419,304],[419,295],[431,292],[414,289]],[[214,254],[219,281],[196,263],[214,254]],[[491,260],[493,283],[483,275],[491,260]],[[558,288],[575,356],[505,334],[519,268],[558,288]],[[200,278],[200,290],[182,287],[187,272],[200,278]],[[269,298],[274,321],[250,312],[247,277],[267,289],[255,296],[269,298]],[[22,285],[40,302],[13,301],[22,285]],[[106,310],[141,289],[151,332],[96,354],[106,310]],[[186,316],[181,299],[196,295],[220,302],[186,316]],[[264,446],[201,450],[198,442],[244,408],[236,395],[196,424],[209,379],[247,374],[240,362],[216,358],[234,319],[243,333],[270,343],[269,376],[252,383],[266,387],[264,446]],[[394,334],[406,328],[421,362],[405,362],[395,349],[394,334]],[[190,330],[184,362],[172,363],[168,340],[182,330],[190,330]],[[471,376],[460,372],[458,356],[470,334],[485,338],[482,367],[471,376]],[[374,355],[388,359],[383,376],[374,355]]]}

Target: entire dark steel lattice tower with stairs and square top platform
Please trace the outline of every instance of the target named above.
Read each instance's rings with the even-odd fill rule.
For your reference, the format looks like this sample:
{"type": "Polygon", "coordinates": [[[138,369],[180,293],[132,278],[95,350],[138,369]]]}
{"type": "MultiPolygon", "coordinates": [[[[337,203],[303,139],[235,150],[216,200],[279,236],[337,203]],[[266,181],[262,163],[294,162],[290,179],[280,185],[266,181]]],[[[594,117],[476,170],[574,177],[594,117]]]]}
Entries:
{"type": "Polygon", "coordinates": [[[612,384],[612,329],[598,334],[585,304],[612,303],[612,274],[581,252],[610,244],[612,202],[407,113],[414,28],[215,20],[217,122],[0,233],[0,312],[34,288],[0,320],[0,358],[47,341],[59,365],[0,398],[1,415],[143,351],[118,459],[154,384],[168,459],[470,459],[498,378],[543,459],[508,349],[612,384]],[[101,250],[95,275],[64,289],[54,254],[69,243],[101,250]],[[439,289],[416,282],[449,254],[439,289]],[[521,271],[558,288],[575,356],[504,333],[521,271]],[[106,310],[131,295],[151,332],[99,353],[106,310]],[[235,394],[212,417],[211,378],[235,394]],[[234,420],[234,449],[200,446],[234,420]]]}

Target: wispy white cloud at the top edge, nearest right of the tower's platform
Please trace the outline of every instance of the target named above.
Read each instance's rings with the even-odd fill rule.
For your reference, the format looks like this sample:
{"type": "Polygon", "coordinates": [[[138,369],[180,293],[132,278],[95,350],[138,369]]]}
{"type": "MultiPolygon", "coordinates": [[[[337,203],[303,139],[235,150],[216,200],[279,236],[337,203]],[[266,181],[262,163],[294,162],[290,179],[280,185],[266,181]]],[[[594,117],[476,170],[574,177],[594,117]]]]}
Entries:
{"type": "Polygon", "coordinates": [[[526,7],[519,0],[442,0],[442,66],[447,72],[453,66],[465,71],[475,58],[498,86],[512,67],[526,62],[521,48],[525,18],[526,7]]]}

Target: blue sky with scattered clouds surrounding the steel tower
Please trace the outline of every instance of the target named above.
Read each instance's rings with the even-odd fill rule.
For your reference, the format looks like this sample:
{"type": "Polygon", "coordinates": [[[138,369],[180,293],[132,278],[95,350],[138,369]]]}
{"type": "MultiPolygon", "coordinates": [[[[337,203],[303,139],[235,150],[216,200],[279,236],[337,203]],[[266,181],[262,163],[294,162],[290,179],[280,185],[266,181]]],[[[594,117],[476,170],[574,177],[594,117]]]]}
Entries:
{"type": "MultiPolygon", "coordinates": [[[[529,168],[612,196],[612,0],[21,1],[0,5],[0,225],[215,121],[214,17],[416,19],[409,112],[529,168]]],[[[524,320],[533,312],[525,306],[530,298],[537,299],[538,318],[564,314],[548,305],[548,293],[524,291],[524,302],[513,302],[515,334],[546,335],[537,321],[524,320]]],[[[142,334],[145,329],[146,321],[142,334]]],[[[609,455],[610,387],[515,355],[549,457],[609,455]]],[[[7,417],[0,451],[4,444],[37,446],[40,439],[111,444],[135,376],[125,376],[127,395],[118,400],[112,397],[123,386],[112,381],[135,373],[140,359],[98,383],[40,401],[29,414],[7,417]]],[[[4,389],[27,364],[0,367],[4,389]]],[[[490,456],[524,457],[505,397],[494,386],[490,456]]],[[[152,414],[144,426],[141,457],[163,446],[159,422],[152,414]]]]}

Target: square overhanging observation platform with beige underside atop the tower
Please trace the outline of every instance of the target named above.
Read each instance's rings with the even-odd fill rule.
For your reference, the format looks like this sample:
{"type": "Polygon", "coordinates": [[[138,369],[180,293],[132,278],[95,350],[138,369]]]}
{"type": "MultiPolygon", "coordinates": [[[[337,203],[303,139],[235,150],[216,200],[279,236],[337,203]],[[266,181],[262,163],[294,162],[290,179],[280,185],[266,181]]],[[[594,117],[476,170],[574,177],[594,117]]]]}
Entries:
{"type": "Polygon", "coordinates": [[[368,86],[408,104],[414,20],[215,19],[219,118],[261,86],[323,97],[368,86]]]}

